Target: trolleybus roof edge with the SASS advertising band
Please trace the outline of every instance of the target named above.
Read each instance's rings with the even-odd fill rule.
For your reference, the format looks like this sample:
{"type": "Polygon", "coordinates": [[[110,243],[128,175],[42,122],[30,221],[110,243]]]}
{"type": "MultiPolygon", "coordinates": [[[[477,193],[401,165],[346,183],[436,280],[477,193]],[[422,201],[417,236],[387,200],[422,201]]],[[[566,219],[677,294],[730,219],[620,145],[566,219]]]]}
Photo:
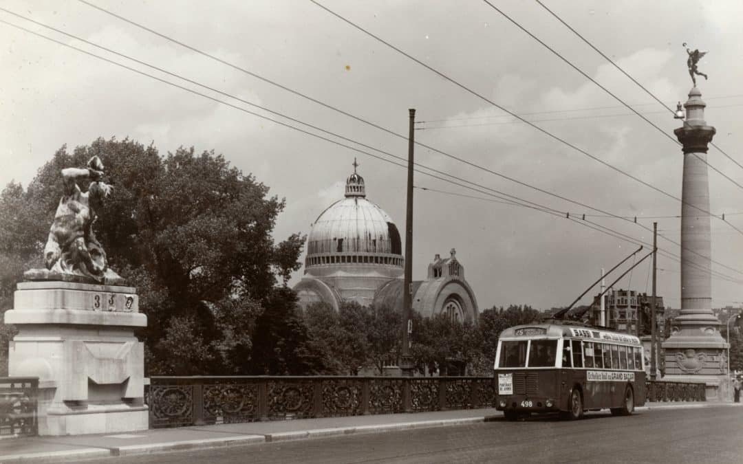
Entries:
{"type": "Polygon", "coordinates": [[[523,340],[544,338],[574,338],[597,342],[615,342],[640,345],[640,339],[629,333],[600,330],[584,325],[523,324],[509,327],[501,332],[501,339],[523,340]]]}

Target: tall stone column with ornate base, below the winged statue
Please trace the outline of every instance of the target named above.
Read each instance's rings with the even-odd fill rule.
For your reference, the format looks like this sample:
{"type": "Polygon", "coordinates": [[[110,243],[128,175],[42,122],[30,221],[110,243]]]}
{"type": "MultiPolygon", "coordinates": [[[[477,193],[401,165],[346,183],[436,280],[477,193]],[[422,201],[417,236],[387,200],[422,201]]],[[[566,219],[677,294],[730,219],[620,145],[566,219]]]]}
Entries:
{"type": "Polygon", "coordinates": [[[666,375],[663,380],[704,382],[707,399],[724,399],[727,393],[727,343],[720,321],[712,312],[710,187],[707,178],[707,144],[715,128],[704,120],[698,88],[684,104],[687,119],[674,131],[683,144],[684,177],[681,194],[681,315],[663,342],[666,375]]]}

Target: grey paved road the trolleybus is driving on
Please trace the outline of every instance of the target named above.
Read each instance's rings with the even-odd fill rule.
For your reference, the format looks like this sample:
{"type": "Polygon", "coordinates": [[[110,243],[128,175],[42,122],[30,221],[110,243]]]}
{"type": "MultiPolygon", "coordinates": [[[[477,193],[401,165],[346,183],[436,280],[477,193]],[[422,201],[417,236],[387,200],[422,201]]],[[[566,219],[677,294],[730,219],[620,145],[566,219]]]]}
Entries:
{"type": "Polygon", "coordinates": [[[85,461],[134,463],[743,463],[741,408],[588,414],[85,461]]]}

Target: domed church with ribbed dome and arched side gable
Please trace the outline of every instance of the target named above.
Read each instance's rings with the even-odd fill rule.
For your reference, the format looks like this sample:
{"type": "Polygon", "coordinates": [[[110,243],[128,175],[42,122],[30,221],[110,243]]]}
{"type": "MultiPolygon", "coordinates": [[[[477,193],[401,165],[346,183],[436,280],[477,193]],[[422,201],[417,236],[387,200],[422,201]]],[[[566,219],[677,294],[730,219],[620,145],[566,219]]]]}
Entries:
{"type": "MultiPolygon", "coordinates": [[[[328,206],[311,226],[305,275],[294,291],[299,304],[324,301],[338,310],[343,301],[381,304],[403,310],[405,258],[398,227],[380,206],[366,199],[366,184],[356,172],[345,182],[345,197],[328,206]]],[[[444,313],[452,321],[477,322],[475,293],[464,266],[451,250],[435,255],[425,281],[413,282],[413,310],[423,316],[444,313]]]]}

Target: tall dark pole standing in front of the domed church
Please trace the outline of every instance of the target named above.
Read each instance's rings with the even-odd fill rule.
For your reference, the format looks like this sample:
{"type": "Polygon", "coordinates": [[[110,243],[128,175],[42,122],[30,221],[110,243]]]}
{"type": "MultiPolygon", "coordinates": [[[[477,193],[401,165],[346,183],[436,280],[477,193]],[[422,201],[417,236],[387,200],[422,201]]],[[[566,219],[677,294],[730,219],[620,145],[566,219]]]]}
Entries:
{"type": "Polygon", "coordinates": [[[412,335],[412,274],[413,274],[413,145],[415,133],[415,109],[410,114],[410,134],[408,137],[408,186],[405,218],[405,277],[403,279],[403,350],[400,359],[400,373],[413,376],[412,356],[410,355],[410,336],[412,335]]]}

